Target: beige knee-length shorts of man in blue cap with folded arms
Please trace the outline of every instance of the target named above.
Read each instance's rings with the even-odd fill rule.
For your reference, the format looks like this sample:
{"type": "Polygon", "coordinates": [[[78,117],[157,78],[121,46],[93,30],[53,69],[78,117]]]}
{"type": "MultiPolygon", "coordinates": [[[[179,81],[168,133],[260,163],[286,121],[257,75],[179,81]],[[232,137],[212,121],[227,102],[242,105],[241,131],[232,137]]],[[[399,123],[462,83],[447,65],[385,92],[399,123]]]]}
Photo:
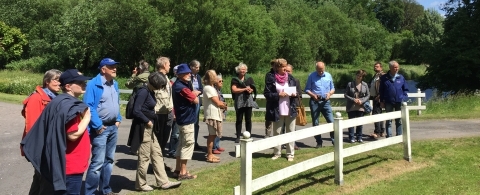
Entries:
{"type": "Polygon", "coordinates": [[[193,156],[193,146],[195,144],[195,128],[192,124],[178,125],[180,137],[178,138],[176,157],[182,160],[191,160],[193,156]]]}

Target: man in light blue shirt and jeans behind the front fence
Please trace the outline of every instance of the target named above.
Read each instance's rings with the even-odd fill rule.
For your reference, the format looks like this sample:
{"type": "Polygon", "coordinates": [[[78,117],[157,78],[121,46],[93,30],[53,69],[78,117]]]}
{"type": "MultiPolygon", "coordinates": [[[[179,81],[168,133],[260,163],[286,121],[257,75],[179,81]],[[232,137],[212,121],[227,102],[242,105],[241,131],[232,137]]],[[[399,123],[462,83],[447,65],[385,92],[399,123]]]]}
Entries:
{"type": "MultiPolygon", "coordinates": [[[[325,72],[325,63],[318,61],[316,70],[312,72],[307,79],[305,93],[310,96],[310,112],[312,115],[313,126],[318,126],[320,113],[323,114],[327,123],[333,123],[332,106],[330,105],[330,96],[335,93],[332,75],[325,72]]],[[[330,132],[330,139],[334,143],[334,132],[330,132]]],[[[323,144],[322,135],[316,135],[316,148],[321,148],[323,144]]]]}

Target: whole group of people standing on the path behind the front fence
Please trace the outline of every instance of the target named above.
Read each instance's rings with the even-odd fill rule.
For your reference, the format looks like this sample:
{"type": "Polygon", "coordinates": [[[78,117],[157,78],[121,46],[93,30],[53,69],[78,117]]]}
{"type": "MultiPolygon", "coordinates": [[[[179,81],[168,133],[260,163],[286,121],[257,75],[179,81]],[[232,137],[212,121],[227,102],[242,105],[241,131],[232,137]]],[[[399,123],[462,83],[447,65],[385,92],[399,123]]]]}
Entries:
{"type": "MultiPolygon", "coordinates": [[[[43,86],[23,102],[22,115],[25,129],[21,141],[21,153],[35,169],[29,194],[80,194],[82,178],[86,172],[85,194],[114,194],[109,182],[113,168],[118,127],[122,121],[119,107],[119,88],[115,80],[119,62],[105,58],[99,63],[100,73],[93,78],[83,76],[76,69],[64,72],[49,70],[43,78],[43,86]],[[88,83],[87,81],[90,80],[88,83]],[[62,93],[60,94],[60,91],[62,93]],[[83,101],[78,99],[83,94],[83,101]],[[90,160],[90,164],[89,164],[90,160]]],[[[282,132],[295,131],[297,106],[302,102],[300,81],[292,75],[293,66],[285,59],[274,59],[271,70],[265,75],[266,137],[282,132]]],[[[305,83],[304,92],[310,96],[309,106],[313,126],[319,125],[322,114],[327,123],[333,122],[330,97],[335,92],[332,76],[325,71],[325,64],[316,63],[305,83]]],[[[382,72],[381,63],[375,63],[375,75],[370,85],[363,79],[364,70],[357,71],[355,79],[345,90],[349,118],[364,115],[363,105],[373,100],[373,114],[399,110],[407,97],[405,79],[398,74],[399,64],[389,63],[390,71],[382,72]]],[[[227,104],[221,93],[223,78],[215,70],[207,70],[201,77],[200,62],[191,61],[173,68],[171,79],[170,59],[156,59],[155,71],[149,72],[146,61],[140,61],[132,71],[125,86],[135,91],[133,121],[127,145],[138,156],[135,189],[151,191],[154,188],[169,189],[181,185],[182,180],[195,179],[187,169],[194,150],[201,150],[197,142],[200,108],[208,129],[205,160],[220,162],[222,122],[227,104]],[[200,97],[203,95],[203,97],[200,97]],[[192,114],[193,113],[193,114],[192,114]],[[164,163],[164,156],[176,158],[175,168],[164,163]],[[155,185],[146,181],[149,163],[153,166],[155,185]],[[173,171],[178,181],[170,181],[166,171],[173,171]]],[[[240,63],[235,67],[230,90],[236,114],[235,129],[238,143],[245,119],[246,131],[252,131],[252,109],[256,103],[257,87],[247,74],[248,67],[240,63]]],[[[396,119],[397,135],[401,121],[396,119]]],[[[349,128],[350,142],[362,142],[362,127],[349,128]],[[355,140],[356,136],[356,140],[355,140]]],[[[375,123],[374,138],[385,136],[383,123],[375,123]]],[[[386,136],[391,137],[391,120],[386,122],[386,136]]],[[[315,136],[317,148],[322,147],[321,135],[315,136]]],[[[334,144],[333,132],[330,134],[334,144]]],[[[286,158],[293,161],[294,142],[285,145],[286,158]]],[[[281,157],[281,146],[274,147],[272,159],[281,157]]]]}

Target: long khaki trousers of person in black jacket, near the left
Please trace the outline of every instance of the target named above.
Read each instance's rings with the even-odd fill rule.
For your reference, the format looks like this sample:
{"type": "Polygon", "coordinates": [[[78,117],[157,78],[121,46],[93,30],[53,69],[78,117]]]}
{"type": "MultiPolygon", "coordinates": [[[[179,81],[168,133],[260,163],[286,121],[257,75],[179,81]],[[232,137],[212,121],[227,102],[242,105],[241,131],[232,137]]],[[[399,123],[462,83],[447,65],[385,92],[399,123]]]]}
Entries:
{"type": "Polygon", "coordinates": [[[141,188],[147,185],[147,169],[150,160],[152,160],[153,173],[157,186],[167,183],[169,180],[167,173],[165,173],[165,167],[163,166],[163,155],[160,145],[158,144],[157,136],[153,133],[152,128],[145,127],[143,141],[138,149],[135,188],[141,188]]]}

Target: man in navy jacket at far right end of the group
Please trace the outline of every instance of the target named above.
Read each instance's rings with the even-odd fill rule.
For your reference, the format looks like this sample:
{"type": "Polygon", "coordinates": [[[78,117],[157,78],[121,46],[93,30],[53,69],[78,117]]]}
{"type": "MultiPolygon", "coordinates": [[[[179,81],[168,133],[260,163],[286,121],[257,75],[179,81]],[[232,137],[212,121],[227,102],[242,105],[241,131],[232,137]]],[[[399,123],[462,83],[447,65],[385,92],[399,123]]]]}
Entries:
{"type": "MultiPolygon", "coordinates": [[[[396,61],[388,63],[390,71],[380,77],[380,106],[385,108],[386,112],[399,111],[402,107],[402,102],[408,98],[408,86],[405,78],[398,74],[400,65],[396,61]]],[[[396,133],[402,135],[402,120],[395,119],[396,133]]],[[[387,129],[387,138],[392,137],[392,120],[385,122],[387,129]]]]}

